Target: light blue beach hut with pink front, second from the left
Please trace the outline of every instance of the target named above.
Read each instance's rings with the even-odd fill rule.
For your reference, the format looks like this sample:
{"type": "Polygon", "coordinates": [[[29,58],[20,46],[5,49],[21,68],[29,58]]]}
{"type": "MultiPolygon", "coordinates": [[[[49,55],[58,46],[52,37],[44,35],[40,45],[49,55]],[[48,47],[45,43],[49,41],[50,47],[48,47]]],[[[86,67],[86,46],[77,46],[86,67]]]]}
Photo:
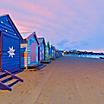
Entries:
{"type": "MultiPolygon", "coordinates": [[[[36,36],[36,33],[32,34],[22,34],[24,39],[24,43],[21,44],[21,48],[25,48],[25,52],[23,54],[25,67],[31,68],[36,67],[40,64],[39,60],[39,42],[36,36]]],[[[23,59],[22,59],[23,61],[23,59]]]]}

